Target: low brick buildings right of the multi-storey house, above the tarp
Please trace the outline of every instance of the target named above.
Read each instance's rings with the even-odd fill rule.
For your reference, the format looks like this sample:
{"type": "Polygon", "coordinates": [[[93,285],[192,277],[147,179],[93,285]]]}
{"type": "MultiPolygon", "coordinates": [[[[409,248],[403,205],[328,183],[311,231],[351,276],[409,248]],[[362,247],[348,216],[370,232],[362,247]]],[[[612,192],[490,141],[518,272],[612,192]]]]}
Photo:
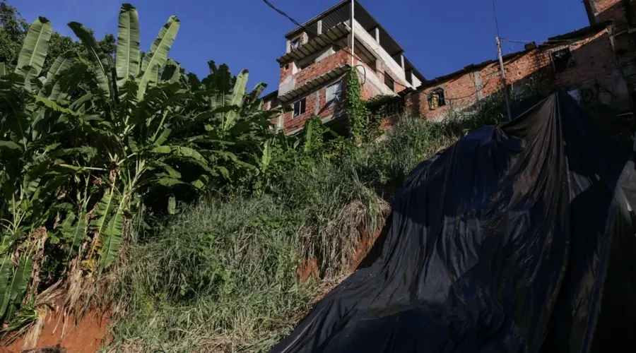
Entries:
{"type": "MultiPolygon", "coordinates": [[[[512,94],[564,89],[584,106],[627,114],[636,83],[630,1],[584,0],[584,5],[589,27],[543,44],[527,43],[523,51],[503,57],[508,89],[512,94]]],[[[443,119],[450,110],[469,107],[502,89],[495,59],[425,81],[406,96],[406,107],[426,119],[443,119]]]]}

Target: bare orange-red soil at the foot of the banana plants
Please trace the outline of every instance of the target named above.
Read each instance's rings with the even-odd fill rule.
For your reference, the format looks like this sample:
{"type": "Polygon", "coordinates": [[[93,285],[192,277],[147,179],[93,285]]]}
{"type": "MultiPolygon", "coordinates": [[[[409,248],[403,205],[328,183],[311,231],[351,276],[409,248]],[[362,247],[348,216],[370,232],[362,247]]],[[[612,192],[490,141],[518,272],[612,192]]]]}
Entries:
{"type": "MultiPolygon", "coordinates": [[[[45,319],[44,328],[42,328],[40,339],[37,340],[35,348],[57,346],[62,352],[67,353],[96,352],[102,344],[102,340],[107,339],[108,323],[110,323],[110,312],[90,311],[77,324],[72,317],[64,318],[63,314],[59,312],[50,313],[45,319]],[[66,333],[64,337],[61,337],[65,319],[68,321],[66,333]]],[[[0,352],[23,352],[23,338],[18,338],[8,347],[1,345],[0,352]]]]}

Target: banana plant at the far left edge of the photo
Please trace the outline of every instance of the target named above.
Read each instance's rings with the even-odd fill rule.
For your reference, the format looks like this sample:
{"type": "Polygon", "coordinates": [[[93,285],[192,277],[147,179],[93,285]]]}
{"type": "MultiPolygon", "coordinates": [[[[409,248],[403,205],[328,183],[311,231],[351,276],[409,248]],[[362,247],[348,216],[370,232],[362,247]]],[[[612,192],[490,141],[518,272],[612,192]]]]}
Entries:
{"type": "Polygon", "coordinates": [[[49,20],[38,18],[15,71],[0,65],[0,323],[11,321],[20,306],[33,263],[41,260],[33,249],[44,246],[45,225],[71,207],[59,193],[74,173],[64,167],[68,152],[59,142],[71,126],[55,101],[74,92],[86,69],[66,52],[40,76],[51,33],[49,20]]]}

